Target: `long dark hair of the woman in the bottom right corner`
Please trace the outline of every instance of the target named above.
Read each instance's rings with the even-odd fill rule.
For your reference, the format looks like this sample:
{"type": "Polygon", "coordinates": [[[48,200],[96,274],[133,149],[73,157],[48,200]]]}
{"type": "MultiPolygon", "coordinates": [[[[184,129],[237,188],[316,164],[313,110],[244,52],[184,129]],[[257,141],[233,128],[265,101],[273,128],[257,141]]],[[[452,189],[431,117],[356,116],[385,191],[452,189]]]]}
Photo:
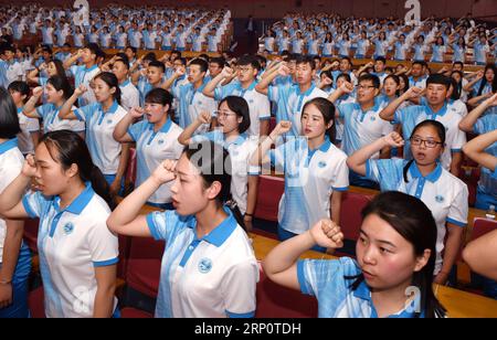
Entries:
{"type": "MultiPolygon", "coordinates": [[[[388,191],[377,195],[361,212],[362,221],[369,215],[377,215],[389,223],[395,232],[411,243],[414,255],[422,256],[431,251],[426,265],[413,273],[411,285],[419,288],[420,308],[415,317],[444,317],[445,308],[433,293],[433,272],[436,259],[436,222],[430,209],[419,199],[398,191],[388,191]]],[[[347,277],[352,279],[352,277],[347,277]]],[[[363,275],[353,277],[352,289],[356,290],[364,280],[363,275]]],[[[417,297],[416,297],[417,298],[417,297]]]]}

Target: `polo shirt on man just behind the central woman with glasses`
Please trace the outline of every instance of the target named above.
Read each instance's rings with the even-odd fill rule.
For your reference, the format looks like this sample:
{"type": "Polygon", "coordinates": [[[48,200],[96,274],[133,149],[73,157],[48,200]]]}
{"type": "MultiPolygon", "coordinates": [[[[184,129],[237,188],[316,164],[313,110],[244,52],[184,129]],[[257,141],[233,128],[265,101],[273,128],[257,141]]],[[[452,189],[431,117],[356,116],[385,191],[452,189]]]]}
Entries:
{"type": "Polygon", "coordinates": [[[231,82],[225,86],[219,86],[214,91],[214,99],[221,102],[228,96],[243,97],[248,104],[251,115],[251,127],[247,130],[248,136],[258,136],[261,134],[261,120],[271,119],[271,105],[267,96],[255,91],[256,82],[252,83],[246,89],[242,88],[240,82],[231,82]]]}

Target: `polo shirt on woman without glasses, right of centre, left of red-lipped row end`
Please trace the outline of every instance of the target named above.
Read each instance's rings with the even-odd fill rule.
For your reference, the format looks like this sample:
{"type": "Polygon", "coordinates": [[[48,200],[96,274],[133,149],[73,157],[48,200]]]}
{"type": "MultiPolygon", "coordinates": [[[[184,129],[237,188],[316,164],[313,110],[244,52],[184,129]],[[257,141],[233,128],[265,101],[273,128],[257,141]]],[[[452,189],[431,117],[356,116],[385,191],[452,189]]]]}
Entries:
{"type": "Polygon", "coordinates": [[[321,219],[330,219],[334,191],[347,191],[347,156],[328,138],[309,150],[307,138],[292,138],[269,151],[272,164],[285,172],[285,193],[279,201],[279,225],[294,233],[308,231],[321,219]]]}

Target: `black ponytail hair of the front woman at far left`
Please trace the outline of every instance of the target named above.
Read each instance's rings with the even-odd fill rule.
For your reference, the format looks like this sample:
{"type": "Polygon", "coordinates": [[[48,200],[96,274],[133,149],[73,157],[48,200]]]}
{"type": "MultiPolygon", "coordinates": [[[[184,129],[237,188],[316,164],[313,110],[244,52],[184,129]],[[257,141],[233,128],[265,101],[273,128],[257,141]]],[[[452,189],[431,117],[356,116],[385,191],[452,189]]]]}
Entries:
{"type": "Polygon", "coordinates": [[[51,131],[44,135],[40,142],[45,144],[50,156],[62,169],[67,170],[72,164],[76,164],[80,179],[84,183],[91,182],[93,190],[107,202],[110,210],[115,208],[108,183],[101,169],[93,163],[88,147],[80,135],[70,130],[51,131]]]}

